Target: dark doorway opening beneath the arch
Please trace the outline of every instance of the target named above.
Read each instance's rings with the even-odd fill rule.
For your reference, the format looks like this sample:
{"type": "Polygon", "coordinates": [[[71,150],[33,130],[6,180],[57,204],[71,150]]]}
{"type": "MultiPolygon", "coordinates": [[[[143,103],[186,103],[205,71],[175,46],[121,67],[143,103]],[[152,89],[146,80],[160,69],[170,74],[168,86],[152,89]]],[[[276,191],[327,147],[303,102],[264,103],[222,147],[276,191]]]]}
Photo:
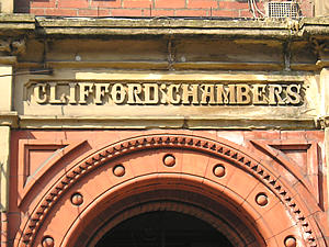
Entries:
{"type": "Polygon", "coordinates": [[[95,247],[234,247],[196,217],[157,211],[129,218],[106,233],[95,247]]]}

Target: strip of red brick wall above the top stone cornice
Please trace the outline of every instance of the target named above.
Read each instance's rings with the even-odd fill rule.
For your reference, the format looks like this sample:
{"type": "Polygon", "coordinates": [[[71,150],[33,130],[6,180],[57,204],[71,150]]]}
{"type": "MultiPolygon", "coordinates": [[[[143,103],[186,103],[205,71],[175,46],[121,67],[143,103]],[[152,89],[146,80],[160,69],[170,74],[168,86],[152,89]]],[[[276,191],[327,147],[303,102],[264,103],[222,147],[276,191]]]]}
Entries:
{"type": "MultiPolygon", "coordinates": [[[[259,9],[269,0],[256,0],[259,9]]],[[[298,0],[311,16],[313,0],[298,0]]],[[[248,0],[15,0],[15,12],[66,16],[252,18],[248,0]]]]}

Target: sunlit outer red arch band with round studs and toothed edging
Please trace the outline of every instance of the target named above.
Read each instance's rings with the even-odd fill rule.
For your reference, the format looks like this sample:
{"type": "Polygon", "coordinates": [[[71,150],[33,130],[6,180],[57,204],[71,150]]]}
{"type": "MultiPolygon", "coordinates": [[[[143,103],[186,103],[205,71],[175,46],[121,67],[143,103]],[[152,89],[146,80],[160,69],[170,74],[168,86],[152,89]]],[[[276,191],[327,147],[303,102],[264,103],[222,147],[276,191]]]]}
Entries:
{"type": "MultiPolygon", "coordinates": [[[[261,159],[224,139],[161,134],[110,145],[72,166],[43,197],[29,220],[22,223],[22,235],[15,246],[39,246],[43,240],[52,239],[55,246],[59,246],[58,243],[66,246],[66,239],[70,239],[67,234],[72,228],[83,227],[89,224],[88,217],[97,220],[99,216],[97,211],[88,211],[88,207],[107,202],[105,199],[109,197],[107,206],[113,204],[114,199],[132,199],[136,190],[133,193],[124,188],[143,188],[143,184],[150,188],[155,181],[161,182],[156,182],[154,191],[161,187],[169,190],[168,181],[173,184],[183,181],[178,191],[193,192],[194,195],[209,193],[206,198],[222,203],[225,205],[223,209],[235,213],[241,210],[247,217],[243,224],[253,227],[254,236],[264,239],[266,246],[282,246],[294,239],[302,246],[325,246],[315,237],[318,229],[307,217],[305,205],[261,159]],[[156,180],[149,179],[149,176],[156,176],[156,180]],[[124,192],[125,197],[120,195],[124,192]],[[132,197],[128,197],[129,193],[132,197]],[[64,233],[52,228],[66,216],[64,233]],[[271,222],[276,216],[281,217],[279,225],[271,222]],[[257,232],[260,232],[259,236],[257,232]]],[[[137,194],[145,192],[144,189],[137,194]]]]}

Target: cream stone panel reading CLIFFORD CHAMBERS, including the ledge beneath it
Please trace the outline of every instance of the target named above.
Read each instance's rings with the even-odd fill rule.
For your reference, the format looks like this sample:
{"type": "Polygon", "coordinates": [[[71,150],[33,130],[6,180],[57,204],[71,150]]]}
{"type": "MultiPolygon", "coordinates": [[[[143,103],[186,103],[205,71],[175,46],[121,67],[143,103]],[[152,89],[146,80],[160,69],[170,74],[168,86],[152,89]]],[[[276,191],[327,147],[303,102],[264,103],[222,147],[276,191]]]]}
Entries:
{"type": "Polygon", "coordinates": [[[314,122],[320,104],[316,78],[308,75],[64,70],[52,78],[31,76],[16,85],[22,86],[15,90],[23,100],[14,106],[26,127],[39,126],[36,122],[54,126],[54,119],[63,124],[55,127],[72,121],[84,121],[86,127],[213,127],[227,126],[226,120],[252,121],[250,127],[262,126],[261,121],[274,125],[273,120],[290,126],[292,120],[314,122]]]}

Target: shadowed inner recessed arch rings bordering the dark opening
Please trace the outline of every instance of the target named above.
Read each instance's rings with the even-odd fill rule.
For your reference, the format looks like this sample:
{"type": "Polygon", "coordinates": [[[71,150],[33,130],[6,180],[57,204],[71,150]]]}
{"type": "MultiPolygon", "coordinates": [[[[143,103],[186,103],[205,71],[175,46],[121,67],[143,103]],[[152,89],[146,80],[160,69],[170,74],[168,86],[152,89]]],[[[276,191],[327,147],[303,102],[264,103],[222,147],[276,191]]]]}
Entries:
{"type": "MultiPolygon", "coordinates": [[[[146,176],[143,186],[137,191],[133,186],[134,182],[127,182],[127,184],[121,187],[120,190],[123,193],[127,193],[128,197],[120,197],[120,200],[113,203],[114,205],[106,207],[104,211],[105,206],[102,205],[102,202],[106,202],[112,194],[112,192],[107,191],[98,199],[101,203],[95,203],[95,207],[91,205],[84,210],[83,218],[86,218],[86,222],[89,222],[89,227],[81,231],[79,226],[80,223],[76,221],[75,226],[67,233],[60,246],[76,247],[82,246],[83,243],[89,243],[87,245],[88,247],[93,246],[103,234],[123,221],[141,213],[154,211],[174,211],[203,220],[218,229],[218,232],[225,235],[230,243],[237,247],[265,246],[264,239],[251,222],[246,222],[247,218],[246,221],[239,218],[239,216],[243,217],[243,213],[246,212],[242,213],[234,210],[232,204],[230,204],[232,202],[226,201],[228,200],[227,198],[224,199],[212,195],[211,193],[216,193],[216,190],[208,186],[200,184],[200,191],[193,190],[192,192],[184,187],[193,186],[195,180],[184,177],[185,176],[182,176],[180,179],[170,178],[170,183],[168,183],[166,178],[161,178],[159,181],[155,176],[146,176]],[[207,195],[201,194],[204,190],[209,190],[211,193],[207,195]],[[166,194],[166,199],[163,194],[166,194]],[[214,199],[211,199],[211,197],[214,199]],[[197,200],[195,200],[195,198],[197,198],[197,200]],[[207,206],[205,206],[205,202],[207,202],[207,206]],[[99,217],[105,221],[105,223],[99,226],[99,221],[94,220],[95,216],[92,212],[102,212],[102,216],[99,217]],[[239,216],[237,216],[237,214],[239,214],[239,216]],[[94,221],[92,222],[92,220],[94,221]],[[76,238],[81,235],[83,235],[86,239],[76,238]],[[72,243],[76,244],[73,245],[72,243]]],[[[216,184],[214,186],[217,187],[216,184]]],[[[262,227],[266,226],[262,225],[262,227]]]]}

